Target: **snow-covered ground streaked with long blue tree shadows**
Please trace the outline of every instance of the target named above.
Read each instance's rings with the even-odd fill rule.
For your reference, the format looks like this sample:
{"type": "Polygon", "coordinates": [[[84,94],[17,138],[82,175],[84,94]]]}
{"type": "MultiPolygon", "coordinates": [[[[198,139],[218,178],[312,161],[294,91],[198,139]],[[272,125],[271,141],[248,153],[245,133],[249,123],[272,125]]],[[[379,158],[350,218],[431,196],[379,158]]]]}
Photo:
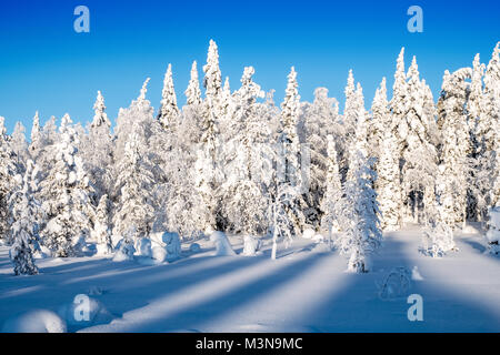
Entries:
{"type": "MultiPolygon", "coordinates": [[[[173,263],[143,265],[102,256],[38,260],[40,275],[14,276],[0,247],[0,327],[68,332],[500,332],[500,257],[479,234],[456,237],[459,252],[431,258],[418,252],[420,231],[384,236],[369,274],[346,273],[346,258],[299,239],[270,260],[201,252],[173,263]],[[411,285],[383,298],[379,285],[394,267],[411,285]],[[78,294],[92,301],[90,322],[76,322],[78,294]],[[423,298],[423,321],[410,322],[407,296],[423,298]],[[37,312],[33,312],[37,311],[37,312]],[[48,325],[47,325],[48,324],[48,325]]],[[[234,251],[242,237],[230,237],[234,251]]]]}

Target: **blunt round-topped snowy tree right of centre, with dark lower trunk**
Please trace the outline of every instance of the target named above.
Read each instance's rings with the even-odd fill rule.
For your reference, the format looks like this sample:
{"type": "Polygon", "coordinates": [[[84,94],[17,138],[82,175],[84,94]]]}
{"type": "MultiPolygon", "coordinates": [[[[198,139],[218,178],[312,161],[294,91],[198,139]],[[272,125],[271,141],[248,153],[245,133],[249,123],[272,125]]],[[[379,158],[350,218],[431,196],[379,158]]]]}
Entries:
{"type": "MultiPolygon", "coordinates": [[[[328,89],[314,90],[314,101],[304,103],[302,106],[300,124],[303,124],[299,130],[303,135],[302,151],[309,155],[309,171],[306,171],[309,181],[309,190],[304,193],[306,221],[318,230],[323,213],[320,204],[327,189],[327,136],[331,134],[338,151],[341,153],[344,151],[344,133],[343,125],[340,123],[339,104],[336,99],[328,97],[328,89]]],[[[342,155],[339,158],[339,161],[343,159],[342,155]]]]}

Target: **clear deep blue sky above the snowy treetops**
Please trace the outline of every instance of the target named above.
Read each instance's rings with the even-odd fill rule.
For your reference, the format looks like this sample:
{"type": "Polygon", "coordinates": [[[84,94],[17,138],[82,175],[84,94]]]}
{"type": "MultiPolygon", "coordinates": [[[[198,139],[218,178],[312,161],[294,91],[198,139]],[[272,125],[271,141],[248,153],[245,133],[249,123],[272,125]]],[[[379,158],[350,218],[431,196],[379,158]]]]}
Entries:
{"type": "Polygon", "coordinates": [[[500,1],[1,1],[0,115],[9,132],[21,121],[29,133],[36,110],[43,123],[66,112],[84,123],[101,90],[114,120],[147,77],[158,108],[168,63],[183,104],[191,62],[201,78],[210,39],[232,89],[253,65],[254,80],[280,102],[294,65],[303,100],[327,87],[342,103],[353,69],[369,108],[382,77],[392,87],[403,45],[407,65],[417,55],[434,94],[444,69],[470,65],[478,52],[487,62],[500,40],[500,1]],[[90,33],[73,31],[79,4],[90,9],[90,33]],[[412,4],[423,9],[423,33],[407,30],[412,4]]]}

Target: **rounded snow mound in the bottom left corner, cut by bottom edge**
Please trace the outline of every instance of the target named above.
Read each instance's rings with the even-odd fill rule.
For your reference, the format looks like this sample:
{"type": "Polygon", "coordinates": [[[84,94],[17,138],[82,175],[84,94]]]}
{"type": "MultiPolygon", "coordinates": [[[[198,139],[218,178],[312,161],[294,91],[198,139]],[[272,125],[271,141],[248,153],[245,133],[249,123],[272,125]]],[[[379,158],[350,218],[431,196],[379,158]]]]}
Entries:
{"type": "Polygon", "coordinates": [[[36,310],[8,320],[2,333],[66,333],[67,326],[56,313],[36,310]]]}

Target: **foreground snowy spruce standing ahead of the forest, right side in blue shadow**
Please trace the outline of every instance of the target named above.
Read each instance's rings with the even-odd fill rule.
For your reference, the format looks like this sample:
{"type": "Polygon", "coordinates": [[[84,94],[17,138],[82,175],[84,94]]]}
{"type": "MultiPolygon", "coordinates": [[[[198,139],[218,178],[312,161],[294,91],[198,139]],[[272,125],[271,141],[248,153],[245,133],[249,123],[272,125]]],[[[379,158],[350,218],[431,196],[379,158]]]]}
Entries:
{"type": "Polygon", "coordinates": [[[341,254],[348,255],[348,271],[366,273],[370,270],[369,256],[382,240],[377,193],[372,187],[377,173],[372,170],[373,158],[367,159],[359,150],[352,156],[352,173],[343,186],[338,220],[342,233],[334,244],[341,254]]]}

